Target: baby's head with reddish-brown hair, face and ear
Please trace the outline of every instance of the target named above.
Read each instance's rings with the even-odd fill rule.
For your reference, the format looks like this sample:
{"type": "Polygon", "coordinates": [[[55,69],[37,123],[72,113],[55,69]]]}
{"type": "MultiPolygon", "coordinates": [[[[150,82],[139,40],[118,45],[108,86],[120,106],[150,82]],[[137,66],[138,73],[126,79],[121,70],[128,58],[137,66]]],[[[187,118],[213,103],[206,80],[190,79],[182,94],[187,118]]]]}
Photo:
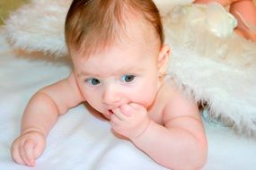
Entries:
{"type": "Polygon", "coordinates": [[[105,113],[129,102],[152,104],[170,52],[153,1],[74,0],[65,33],[75,76],[91,106],[105,113]]]}

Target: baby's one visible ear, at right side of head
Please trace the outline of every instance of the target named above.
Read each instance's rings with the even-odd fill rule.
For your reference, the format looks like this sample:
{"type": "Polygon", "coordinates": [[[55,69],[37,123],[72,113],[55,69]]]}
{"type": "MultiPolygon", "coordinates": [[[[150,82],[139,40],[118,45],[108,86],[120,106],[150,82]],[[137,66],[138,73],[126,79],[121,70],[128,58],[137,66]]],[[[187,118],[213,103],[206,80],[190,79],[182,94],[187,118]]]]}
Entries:
{"type": "Polygon", "coordinates": [[[158,55],[158,72],[160,74],[165,74],[167,67],[168,67],[168,61],[171,54],[171,49],[168,45],[164,44],[159,52],[158,55]]]}

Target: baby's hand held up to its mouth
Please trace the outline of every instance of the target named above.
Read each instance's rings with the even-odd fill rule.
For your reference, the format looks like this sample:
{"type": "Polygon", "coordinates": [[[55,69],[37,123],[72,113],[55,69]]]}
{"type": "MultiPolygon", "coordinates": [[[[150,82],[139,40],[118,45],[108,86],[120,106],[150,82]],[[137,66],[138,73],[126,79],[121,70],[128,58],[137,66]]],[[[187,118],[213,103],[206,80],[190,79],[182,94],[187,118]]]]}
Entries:
{"type": "Polygon", "coordinates": [[[137,138],[150,122],[144,106],[135,103],[126,104],[112,110],[110,124],[115,132],[129,138],[137,138]]]}

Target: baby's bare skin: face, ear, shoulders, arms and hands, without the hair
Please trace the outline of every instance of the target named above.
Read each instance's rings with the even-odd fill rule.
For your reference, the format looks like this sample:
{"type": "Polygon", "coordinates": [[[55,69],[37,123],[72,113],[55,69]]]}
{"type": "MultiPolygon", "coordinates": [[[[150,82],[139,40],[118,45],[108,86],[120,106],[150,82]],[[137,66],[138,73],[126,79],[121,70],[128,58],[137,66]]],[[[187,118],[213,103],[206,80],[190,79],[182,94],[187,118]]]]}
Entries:
{"type": "Polygon", "coordinates": [[[170,47],[148,36],[154,32],[139,21],[130,28],[122,43],[107,51],[89,58],[70,52],[70,76],[41,89],[26,107],[22,134],[12,145],[14,161],[35,166],[57,117],[86,101],[158,164],[172,169],[205,164],[207,139],[198,106],[163,79],[170,47]]]}

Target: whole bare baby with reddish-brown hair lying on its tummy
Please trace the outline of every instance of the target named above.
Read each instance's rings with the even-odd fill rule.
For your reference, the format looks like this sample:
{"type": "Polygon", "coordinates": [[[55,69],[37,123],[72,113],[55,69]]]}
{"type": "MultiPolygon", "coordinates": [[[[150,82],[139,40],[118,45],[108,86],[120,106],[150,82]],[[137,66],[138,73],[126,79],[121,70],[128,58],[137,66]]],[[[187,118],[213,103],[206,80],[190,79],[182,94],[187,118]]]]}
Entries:
{"type": "Polygon", "coordinates": [[[73,72],[40,89],[12,145],[18,164],[35,166],[59,115],[88,102],[114,132],[158,164],[199,169],[207,139],[199,108],[167,78],[170,48],[152,0],[74,0],[66,16],[73,72]]]}

